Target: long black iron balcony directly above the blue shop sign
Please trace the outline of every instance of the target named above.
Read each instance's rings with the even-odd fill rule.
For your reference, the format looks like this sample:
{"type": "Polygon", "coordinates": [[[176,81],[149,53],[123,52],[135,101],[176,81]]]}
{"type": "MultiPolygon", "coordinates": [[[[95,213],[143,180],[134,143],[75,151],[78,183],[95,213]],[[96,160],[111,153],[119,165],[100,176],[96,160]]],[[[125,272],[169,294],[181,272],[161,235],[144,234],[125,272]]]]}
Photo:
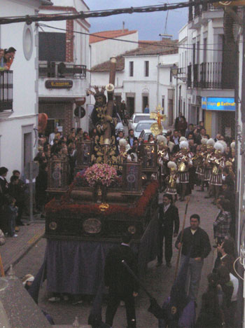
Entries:
{"type": "Polygon", "coordinates": [[[234,89],[235,74],[223,69],[222,62],[189,65],[187,86],[201,89],[234,89]]]}

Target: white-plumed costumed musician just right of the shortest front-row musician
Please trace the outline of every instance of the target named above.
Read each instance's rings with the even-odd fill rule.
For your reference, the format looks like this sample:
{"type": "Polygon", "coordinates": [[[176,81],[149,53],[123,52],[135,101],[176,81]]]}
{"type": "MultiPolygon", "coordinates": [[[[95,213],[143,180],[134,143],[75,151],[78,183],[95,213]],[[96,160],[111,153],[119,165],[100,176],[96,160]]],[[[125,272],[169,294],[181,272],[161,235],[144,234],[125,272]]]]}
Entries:
{"type": "Polygon", "coordinates": [[[188,142],[180,143],[180,151],[176,154],[177,169],[179,172],[179,183],[181,184],[181,202],[185,200],[187,186],[189,183],[189,168],[193,166],[192,156],[188,151],[188,142]]]}

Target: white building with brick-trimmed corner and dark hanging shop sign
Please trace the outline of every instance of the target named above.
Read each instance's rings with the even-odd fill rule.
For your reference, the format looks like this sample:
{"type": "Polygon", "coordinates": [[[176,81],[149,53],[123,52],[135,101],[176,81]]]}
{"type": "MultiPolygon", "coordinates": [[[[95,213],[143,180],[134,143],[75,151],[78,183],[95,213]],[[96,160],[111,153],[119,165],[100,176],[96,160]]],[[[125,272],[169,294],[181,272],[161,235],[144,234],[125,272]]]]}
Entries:
{"type": "MultiPolygon", "coordinates": [[[[83,0],[54,0],[53,6],[41,6],[40,14],[79,13],[89,8],[83,0]]],[[[87,128],[86,90],[89,86],[89,28],[87,20],[48,22],[39,28],[39,113],[48,115],[45,133],[55,127],[64,135],[71,128],[87,128]],[[58,28],[58,29],[56,29],[58,28]],[[87,70],[88,69],[88,70],[87,70]],[[75,115],[82,106],[85,117],[75,115]]]]}

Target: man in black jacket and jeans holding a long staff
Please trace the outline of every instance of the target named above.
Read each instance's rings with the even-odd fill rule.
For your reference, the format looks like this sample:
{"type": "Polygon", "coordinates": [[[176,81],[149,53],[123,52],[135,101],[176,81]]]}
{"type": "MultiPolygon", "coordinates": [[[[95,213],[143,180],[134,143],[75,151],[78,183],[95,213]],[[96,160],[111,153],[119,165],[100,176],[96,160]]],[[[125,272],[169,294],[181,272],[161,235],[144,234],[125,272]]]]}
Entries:
{"type": "Polygon", "coordinates": [[[196,301],[199,283],[202,274],[202,266],[204,259],[211,252],[209,236],[200,228],[200,216],[193,214],[190,216],[190,226],[183,231],[181,242],[181,233],[179,233],[175,246],[181,250],[181,263],[190,255],[189,271],[190,271],[190,299],[196,301]]]}

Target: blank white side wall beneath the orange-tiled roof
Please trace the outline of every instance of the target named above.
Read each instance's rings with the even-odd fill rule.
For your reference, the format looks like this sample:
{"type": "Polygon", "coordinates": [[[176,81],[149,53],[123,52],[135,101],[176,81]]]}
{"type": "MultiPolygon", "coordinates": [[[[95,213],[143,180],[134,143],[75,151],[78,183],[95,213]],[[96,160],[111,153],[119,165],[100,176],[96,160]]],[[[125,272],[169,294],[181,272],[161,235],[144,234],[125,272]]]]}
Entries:
{"type": "MultiPolygon", "coordinates": [[[[119,36],[119,40],[130,40],[139,41],[138,32],[128,34],[125,36],[119,36]]],[[[110,60],[112,55],[121,55],[126,51],[134,50],[138,48],[138,43],[128,43],[115,40],[104,40],[99,42],[90,43],[91,48],[91,67],[102,62],[107,62],[110,60]]]]}

